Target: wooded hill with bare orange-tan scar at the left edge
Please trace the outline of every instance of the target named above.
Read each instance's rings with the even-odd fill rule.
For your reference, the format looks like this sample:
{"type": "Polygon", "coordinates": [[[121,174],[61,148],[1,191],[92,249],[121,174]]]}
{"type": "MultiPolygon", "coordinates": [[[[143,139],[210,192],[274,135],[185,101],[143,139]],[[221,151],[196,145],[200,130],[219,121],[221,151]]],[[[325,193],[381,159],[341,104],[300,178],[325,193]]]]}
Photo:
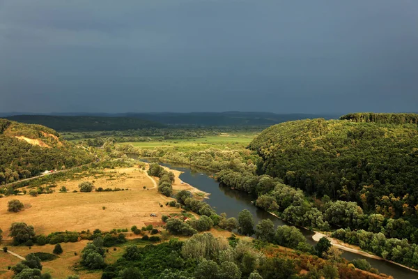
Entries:
{"type": "Polygon", "coordinates": [[[0,185],[92,160],[84,149],[61,140],[55,130],[0,119],[0,185]]]}

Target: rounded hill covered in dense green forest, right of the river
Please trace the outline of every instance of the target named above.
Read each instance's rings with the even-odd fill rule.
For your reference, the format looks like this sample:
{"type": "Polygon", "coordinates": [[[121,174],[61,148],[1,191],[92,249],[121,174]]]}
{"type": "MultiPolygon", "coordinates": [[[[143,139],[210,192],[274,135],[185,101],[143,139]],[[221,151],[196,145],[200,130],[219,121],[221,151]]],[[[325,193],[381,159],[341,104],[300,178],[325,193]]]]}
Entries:
{"type": "Polygon", "coordinates": [[[291,121],[264,130],[249,145],[262,159],[258,173],[319,197],[355,201],[366,212],[417,220],[416,122],[394,124],[402,118],[392,114],[366,116],[378,122],[386,117],[392,124],[343,117],[352,121],[291,121]]]}

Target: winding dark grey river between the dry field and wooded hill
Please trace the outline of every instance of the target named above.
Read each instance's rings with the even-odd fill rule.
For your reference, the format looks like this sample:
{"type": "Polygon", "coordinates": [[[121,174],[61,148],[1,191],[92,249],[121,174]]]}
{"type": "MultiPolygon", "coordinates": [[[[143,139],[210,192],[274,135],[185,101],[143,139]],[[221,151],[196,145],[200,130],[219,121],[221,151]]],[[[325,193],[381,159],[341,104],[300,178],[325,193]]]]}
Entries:
{"type": "MultiPolygon", "coordinates": [[[[137,158],[137,156],[131,156],[132,158],[137,158]]],[[[149,162],[149,160],[141,159],[144,162],[149,162]]],[[[209,199],[205,201],[212,206],[215,211],[220,213],[226,213],[228,217],[238,218],[238,213],[243,209],[248,209],[254,217],[254,223],[257,224],[260,220],[270,219],[273,221],[274,225],[286,225],[288,223],[284,222],[279,218],[272,216],[267,211],[258,209],[258,207],[251,204],[251,201],[256,199],[256,197],[251,197],[247,193],[240,192],[238,190],[231,190],[229,187],[219,186],[219,183],[212,179],[210,176],[213,175],[212,172],[208,172],[204,169],[199,169],[196,167],[191,167],[189,165],[181,165],[178,163],[162,163],[158,162],[160,165],[169,167],[170,169],[176,169],[180,172],[180,179],[189,183],[190,185],[202,190],[203,192],[210,193],[209,199]]],[[[290,224],[289,224],[290,225],[290,224]]],[[[312,239],[314,232],[309,231],[308,229],[299,228],[304,236],[307,238],[308,243],[315,245],[315,241],[312,239]]],[[[366,259],[367,262],[371,264],[374,268],[378,269],[380,273],[385,273],[387,275],[393,276],[394,278],[402,279],[417,279],[418,273],[415,271],[410,271],[409,269],[404,269],[401,266],[386,262],[380,259],[372,259],[369,257],[364,257],[362,255],[357,255],[353,252],[344,251],[342,257],[353,260],[353,259],[366,259]]]]}

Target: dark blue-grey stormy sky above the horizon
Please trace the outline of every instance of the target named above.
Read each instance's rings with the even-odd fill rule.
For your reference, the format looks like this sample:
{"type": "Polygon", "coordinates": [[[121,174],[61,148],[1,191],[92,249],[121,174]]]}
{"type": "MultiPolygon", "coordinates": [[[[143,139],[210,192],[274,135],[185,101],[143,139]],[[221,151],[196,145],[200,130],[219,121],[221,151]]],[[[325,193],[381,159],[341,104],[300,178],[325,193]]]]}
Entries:
{"type": "Polygon", "coordinates": [[[0,112],[418,110],[418,0],[0,0],[0,112]]]}

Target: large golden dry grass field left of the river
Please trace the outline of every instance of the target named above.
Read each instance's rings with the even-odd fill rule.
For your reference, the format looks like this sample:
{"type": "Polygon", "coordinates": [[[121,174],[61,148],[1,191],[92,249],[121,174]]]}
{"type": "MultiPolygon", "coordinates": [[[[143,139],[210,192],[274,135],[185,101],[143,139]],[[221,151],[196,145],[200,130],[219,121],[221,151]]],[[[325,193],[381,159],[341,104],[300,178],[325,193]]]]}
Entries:
{"type": "MultiPolygon", "coordinates": [[[[54,193],[31,197],[31,195],[8,196],[0,199],[0,224],[5,238],[8,228],[13,222],[24,222],[35,227],[36,234],[49,234],[59,231],[80,232],[87,229],[130,228],[132,225],[142,227],[145,223],[159,222],[162,214],[180,212],[180,209],[166,206],[172,200],[157,192],[153,182],[145,172],[137,167],[111,169],[118,177],[108,179],[107,176],[97,178],[90,176],[79,180],[68,180],[59,183],[54,193]],[[95,181],[96,188],[127,188],[118,192],[72,193],[78,190],[82,181],[95,181]],[[65,186],[68,193],[58,193],[65,186]],[[146,186],[146,189],[144,189],[146,186]],[[19,213],[7,211],[7,203],[11,199],[19,199],[25,209],[19,213]],[[163,204],[160,207],[160,204],[163,204]],[[102,209],[103,206],[106,209],[102,209]],[[155,213],[157,217],[150,217],[155,213]]],[[[176,172],[176,174],[179,174],[176,172]]],[[[196,189],[187,183],[180,184],[176,178],[173,183],[175,190],[196,189]]],[[[199,191],[199,190],[197,190],[199,191]]]]}

